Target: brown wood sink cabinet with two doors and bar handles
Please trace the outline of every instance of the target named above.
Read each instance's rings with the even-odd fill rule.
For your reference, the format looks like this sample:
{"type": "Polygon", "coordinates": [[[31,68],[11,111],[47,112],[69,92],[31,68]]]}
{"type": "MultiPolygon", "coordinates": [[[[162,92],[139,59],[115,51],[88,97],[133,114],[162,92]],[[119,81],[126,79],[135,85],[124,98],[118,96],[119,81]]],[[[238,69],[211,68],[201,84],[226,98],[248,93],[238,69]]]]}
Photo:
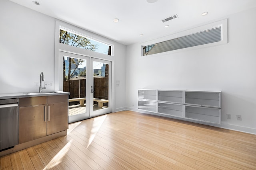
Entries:
{"type": "Polygon", "coordinates": [[[19,144],[68,129],[68,95],[20,98],[19,144]]]}

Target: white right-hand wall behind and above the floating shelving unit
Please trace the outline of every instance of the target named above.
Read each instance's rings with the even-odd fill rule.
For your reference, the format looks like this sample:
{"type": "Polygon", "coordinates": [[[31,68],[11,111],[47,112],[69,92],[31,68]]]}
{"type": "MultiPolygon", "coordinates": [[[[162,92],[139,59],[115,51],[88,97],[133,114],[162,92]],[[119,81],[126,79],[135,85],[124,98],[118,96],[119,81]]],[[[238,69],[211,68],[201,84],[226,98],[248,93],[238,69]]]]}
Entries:
{"type": "Polygon", "coordinates": [[[225,18],[228,44],[148,57],[141,57],[141,44],[129,45],[127,108],[138,111],[138,88],[220,90],[220,127],[256,134],[256,9],[225,18]]]}

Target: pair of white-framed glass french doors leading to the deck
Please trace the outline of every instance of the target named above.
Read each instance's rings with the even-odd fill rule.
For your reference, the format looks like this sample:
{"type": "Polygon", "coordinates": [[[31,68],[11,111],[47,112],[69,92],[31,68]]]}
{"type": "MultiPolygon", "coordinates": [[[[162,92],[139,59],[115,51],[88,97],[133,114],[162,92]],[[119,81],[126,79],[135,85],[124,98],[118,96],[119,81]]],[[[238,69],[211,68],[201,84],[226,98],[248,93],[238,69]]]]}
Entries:
{"type": "Polygon", "coordinates": [[[70,92],[68,122],[111,112],[111,62],[60,51],[63,91],[70,92]]]}

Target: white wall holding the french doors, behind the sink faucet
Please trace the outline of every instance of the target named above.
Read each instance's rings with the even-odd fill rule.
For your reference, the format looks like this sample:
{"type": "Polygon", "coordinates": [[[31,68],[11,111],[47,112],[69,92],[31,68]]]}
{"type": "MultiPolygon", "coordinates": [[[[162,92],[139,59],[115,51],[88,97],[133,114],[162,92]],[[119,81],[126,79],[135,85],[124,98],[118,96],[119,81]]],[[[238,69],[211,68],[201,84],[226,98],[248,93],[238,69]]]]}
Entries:
{"type": "MultiPolygon", "coordinates": [[[[8,0],[0,1],[0,93],[38,92],[34,83],[40,81],[40,72],[46,82],[54,82],[55,21],[8,0]]],[[[108,41],[114,45],[112,78],[120,80],[120,86],[113,87],[113,110],[118,111],[126,107],[126,46],[108,41]]],[[[52,90],[54,86],[46,89],[52,90]]]]}

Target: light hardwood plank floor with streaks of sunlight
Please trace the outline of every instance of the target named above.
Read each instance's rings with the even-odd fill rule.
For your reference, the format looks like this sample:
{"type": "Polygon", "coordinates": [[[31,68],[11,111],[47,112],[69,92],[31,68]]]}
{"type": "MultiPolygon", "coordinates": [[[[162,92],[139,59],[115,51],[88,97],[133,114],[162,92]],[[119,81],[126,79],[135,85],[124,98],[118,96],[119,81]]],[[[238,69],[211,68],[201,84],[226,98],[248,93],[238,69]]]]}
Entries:
{"type": "Polygon", "coordinates": [[[256,135],[133,111],[69,125],[68,135],[0,158],[2,170],[256,170],[256,135]]]}

